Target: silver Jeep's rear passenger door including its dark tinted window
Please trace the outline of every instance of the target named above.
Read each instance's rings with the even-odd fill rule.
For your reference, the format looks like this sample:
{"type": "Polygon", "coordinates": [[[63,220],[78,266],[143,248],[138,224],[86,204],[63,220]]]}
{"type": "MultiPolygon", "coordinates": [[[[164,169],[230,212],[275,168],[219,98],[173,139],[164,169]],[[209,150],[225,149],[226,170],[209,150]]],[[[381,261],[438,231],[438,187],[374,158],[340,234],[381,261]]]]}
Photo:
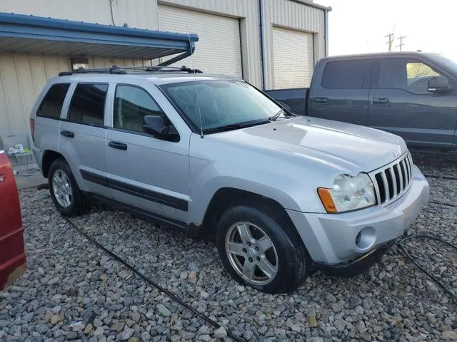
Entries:
{"type": "Polygon", "coordinates": [[[105,144],[108,83],[77,83],[61,122],[59,152],[81,190],[111,197],[105,144]]]}

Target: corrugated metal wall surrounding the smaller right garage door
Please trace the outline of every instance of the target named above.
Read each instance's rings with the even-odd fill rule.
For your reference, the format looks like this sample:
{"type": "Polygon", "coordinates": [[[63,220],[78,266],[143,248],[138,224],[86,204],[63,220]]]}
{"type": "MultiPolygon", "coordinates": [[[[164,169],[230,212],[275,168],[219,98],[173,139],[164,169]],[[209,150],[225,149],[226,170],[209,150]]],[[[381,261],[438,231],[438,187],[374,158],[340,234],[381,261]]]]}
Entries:
{"type": "MultiPolygon", "coordinates": [[[[321,9],[289,0],[264,0],[263,37],[266,89],[274,87],[273,26],[313,33],[314,62],[325,56],[324,15],[321,9]]],[[[293,48],[293,46],[291,46],[293,48]]]]}

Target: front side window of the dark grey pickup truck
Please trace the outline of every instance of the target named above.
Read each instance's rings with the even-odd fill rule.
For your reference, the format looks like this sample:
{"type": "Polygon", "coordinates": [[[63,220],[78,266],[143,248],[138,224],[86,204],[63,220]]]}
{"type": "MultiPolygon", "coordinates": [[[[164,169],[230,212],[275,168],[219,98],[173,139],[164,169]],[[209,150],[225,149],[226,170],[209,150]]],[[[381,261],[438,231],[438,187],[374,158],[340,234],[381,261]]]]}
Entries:
{"type": "Polygon", "coordinates": [[[378,88],[403,89],[413,94],[431,94],[428,81],[439,74],[426,64],[407,58],[381,60],[378,88]]]}

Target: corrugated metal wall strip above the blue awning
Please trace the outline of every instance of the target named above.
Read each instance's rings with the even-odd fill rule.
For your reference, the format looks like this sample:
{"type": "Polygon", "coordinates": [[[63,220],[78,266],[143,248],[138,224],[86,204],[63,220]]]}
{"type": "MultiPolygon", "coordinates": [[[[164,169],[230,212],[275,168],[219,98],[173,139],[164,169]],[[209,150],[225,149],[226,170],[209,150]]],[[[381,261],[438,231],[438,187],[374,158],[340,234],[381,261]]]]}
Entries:
{"type": "MultiPolygon", "coordinates": [[[[154,0],[112,0],[116,26],[157,29],[154,0]]],[[[0,0],[0,12],[112,25],[109,0],[0,0]]]]}

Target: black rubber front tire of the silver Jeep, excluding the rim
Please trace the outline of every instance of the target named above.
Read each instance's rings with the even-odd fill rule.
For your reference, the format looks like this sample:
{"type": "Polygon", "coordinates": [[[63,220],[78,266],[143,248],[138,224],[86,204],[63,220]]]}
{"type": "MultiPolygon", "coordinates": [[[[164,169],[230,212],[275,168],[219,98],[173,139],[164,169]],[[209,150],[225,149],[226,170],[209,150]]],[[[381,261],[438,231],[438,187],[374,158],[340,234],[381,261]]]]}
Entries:
{"type": "Polygon", "coordinates": [[[292,234],[286,232],[290,227],[285,227],[286,225],[287,223],[273,214],[273,212],[267,214],[266,211],[264,212],[256,207],[238,205],[224,212],[218,223],[216,244],[222,264],[224,264],[224,267],[229,271],[233,279],[236,279],[241,284],[246,284],[267,293],[288,292],[295,289],[297,276],[300,276],[300,279],[302,278],[303,267],[306,267],[304,271],[307,274],[311,263],[309,262],[310,260],[306,260],[308,255],[302,255],[303,253],[301,253],[297,245],[297,243],[302,242],[293,242],[293,238],[290,236],[292,234]],[[231,266],[226,253],[226,234],[233,224],[242,221],[250,222],[260,227],[268,235],[276,248],[279,264],[278,273],[275,279],[268,284],[251,284],[239,276],[235,269],[233,269],[233,266],[231,266]]]}

